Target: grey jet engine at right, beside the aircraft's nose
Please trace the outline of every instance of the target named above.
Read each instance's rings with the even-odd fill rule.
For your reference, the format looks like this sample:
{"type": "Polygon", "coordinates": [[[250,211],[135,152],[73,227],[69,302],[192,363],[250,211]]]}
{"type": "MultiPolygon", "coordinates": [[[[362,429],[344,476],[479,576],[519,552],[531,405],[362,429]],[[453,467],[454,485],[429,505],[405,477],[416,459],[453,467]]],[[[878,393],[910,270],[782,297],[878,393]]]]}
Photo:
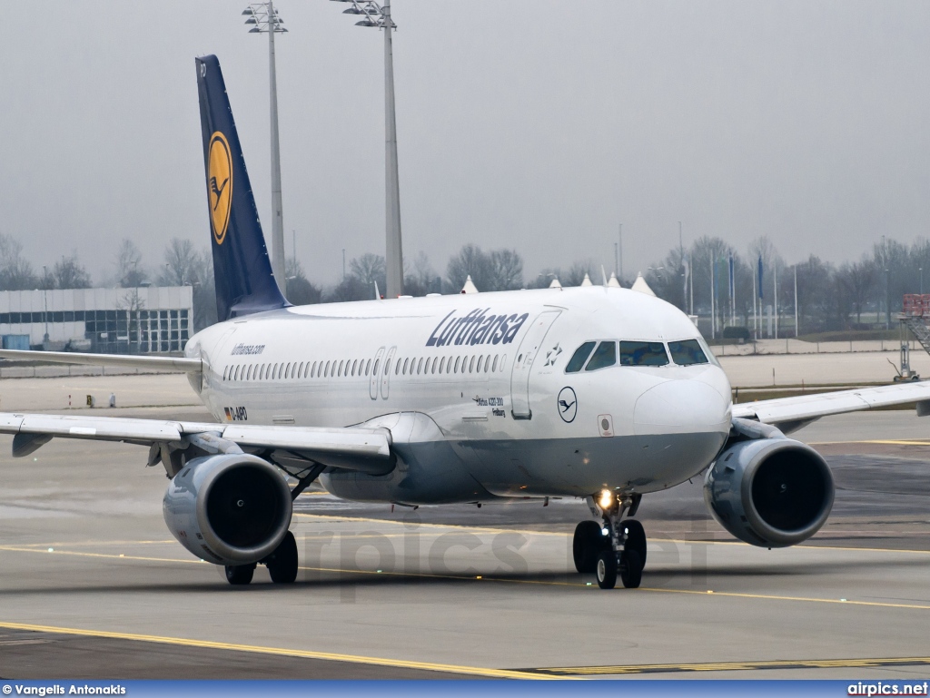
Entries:
{"type": "Polygon", "coordinates": [[[740,441],[714,462],[704,501],[717,522],[753,546],[787,547],[830,516],[833,476],[814,449],[792,439],[740,441]]]}

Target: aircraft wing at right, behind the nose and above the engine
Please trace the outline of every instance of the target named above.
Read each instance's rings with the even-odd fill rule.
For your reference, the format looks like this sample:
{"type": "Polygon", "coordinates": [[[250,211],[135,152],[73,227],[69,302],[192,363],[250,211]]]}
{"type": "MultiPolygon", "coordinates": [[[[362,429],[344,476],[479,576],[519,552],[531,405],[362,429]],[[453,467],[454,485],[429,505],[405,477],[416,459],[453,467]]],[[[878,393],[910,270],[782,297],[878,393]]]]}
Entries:
{"type": "Polygon", "coordinates": [[[930,381],[879,388],[839,390],[733,405],[733,416],[777,425],[786,433],[827,415],[917,403],[917,414],[930,415],[930,381]]]}

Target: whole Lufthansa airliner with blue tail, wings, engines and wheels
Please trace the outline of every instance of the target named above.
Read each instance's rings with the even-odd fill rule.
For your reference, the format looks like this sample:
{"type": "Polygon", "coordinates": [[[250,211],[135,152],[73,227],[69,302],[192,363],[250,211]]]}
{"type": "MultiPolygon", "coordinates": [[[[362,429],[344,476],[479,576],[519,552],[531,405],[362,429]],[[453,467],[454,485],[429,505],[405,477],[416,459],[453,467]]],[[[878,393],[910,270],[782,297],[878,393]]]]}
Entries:
{"type": "Polygon", "coordinates": [[[637,587],[646,535],[632,517],[644,494],[706,471],[724,529],[753,546],[796,545],[827,520],[834,485],[824,459],[787,434],[885,405],[930,414],[924,383],[733,404],[681,310],[606,283],[294,307],[272,274],[219,60],[195,64],[221,322],[183,358],[41,358],[183,371],[217,421],[0,414],[0,433],[15,457],[53,438],[147,446],[147,465],[170,479],[168,530],[233,585],[258,564],[273,583],[295,581],[293,502],[319,481],[343,499],[409,507],[584,498],[578,573],[637,587]]]}

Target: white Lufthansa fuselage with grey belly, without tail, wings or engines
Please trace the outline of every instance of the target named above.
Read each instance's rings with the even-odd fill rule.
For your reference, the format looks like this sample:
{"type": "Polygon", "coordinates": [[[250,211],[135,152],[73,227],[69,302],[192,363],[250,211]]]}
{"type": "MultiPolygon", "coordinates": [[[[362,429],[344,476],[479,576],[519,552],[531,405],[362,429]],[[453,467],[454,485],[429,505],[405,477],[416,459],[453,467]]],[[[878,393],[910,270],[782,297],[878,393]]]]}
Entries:
{"type": "Polygon", "coordinates": [[[327,473],[346,498],[400,503],[636,494],[706,468],[730,386],[698,365],[566,373],[585,342],[699,338],[678,309],[599,286],[273,310],[207,328],[187,354],[223,422],[390,428],[386,476],[327,473]]]}

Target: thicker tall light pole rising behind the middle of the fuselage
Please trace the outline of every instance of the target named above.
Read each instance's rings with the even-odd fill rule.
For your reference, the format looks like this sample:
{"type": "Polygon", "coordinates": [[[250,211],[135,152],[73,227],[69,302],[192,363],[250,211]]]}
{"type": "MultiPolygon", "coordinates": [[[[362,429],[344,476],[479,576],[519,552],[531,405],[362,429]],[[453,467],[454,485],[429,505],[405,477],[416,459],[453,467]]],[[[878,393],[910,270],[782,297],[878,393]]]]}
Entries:
{"type": "Polygon", "coordinates": [[[356,27],[378,27],[384,30],[384,143],[385,143],[385,206],[386,238],[385,266],[387,267],[386,289],[389,298],[404,294],[404,250],[401,244],[401,193],[397,178],[397,122],[394,116],[394,60],[391,33],[397,29],[391,19],[391,3],[383,6],[375,0],[336,0],[350,3],[343,10],[345,15],[361,15],[356,27]]]}

